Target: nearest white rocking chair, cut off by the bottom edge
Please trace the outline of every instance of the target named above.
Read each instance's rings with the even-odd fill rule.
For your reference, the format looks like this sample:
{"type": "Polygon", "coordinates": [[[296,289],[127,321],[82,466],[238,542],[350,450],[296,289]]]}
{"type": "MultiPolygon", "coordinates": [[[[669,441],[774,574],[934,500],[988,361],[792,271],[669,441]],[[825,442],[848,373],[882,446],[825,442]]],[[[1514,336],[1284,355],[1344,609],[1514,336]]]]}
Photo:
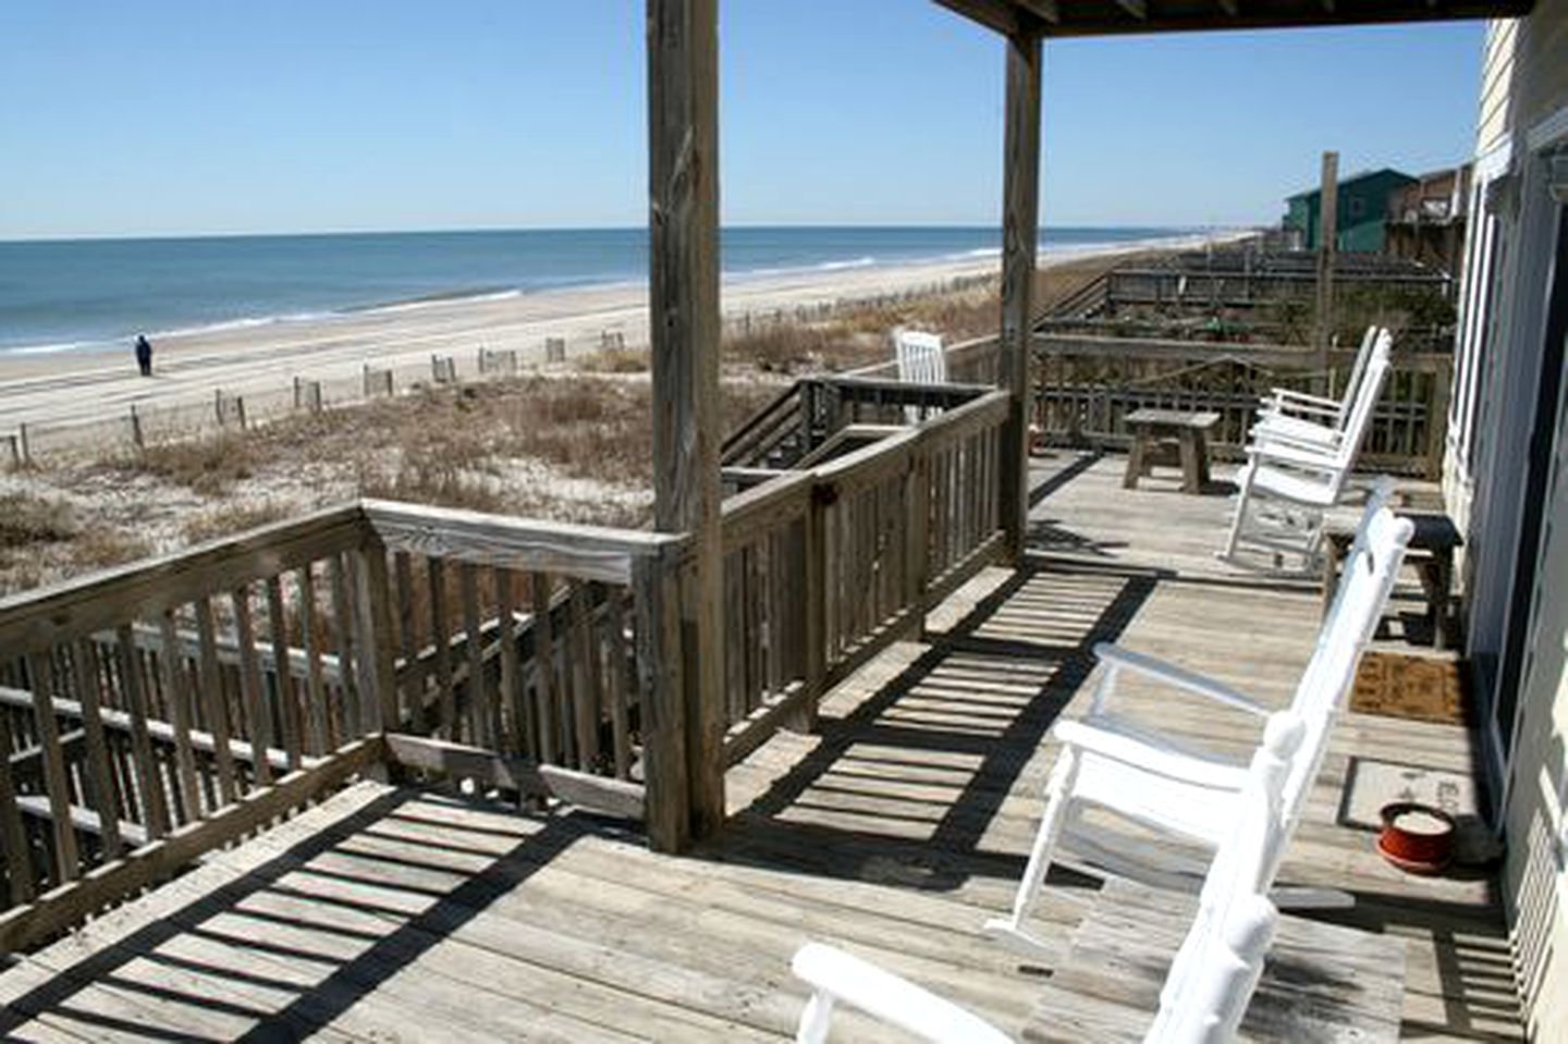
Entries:
{"type": "MultiPolygon", "coordinates": [[[[1275,715],[1265,741],[1243,770],[1239,815],[1204,881],[1198,912],[1160,991],[1146,1042],[1229,1041],[1262,973],[1278,914],[1264,898],[1267,875],[1284,845],[1279,795],[1301,743],[1295,715],[1275,715]]],[[[806,944],[792,961],[812,988],[795,1035],[823,1044],[837,1003],[859,1008],[919,1039],[939,1044],[1002,1044],[1011,1038],[971,1011],[834,947],[806,944]]]]}

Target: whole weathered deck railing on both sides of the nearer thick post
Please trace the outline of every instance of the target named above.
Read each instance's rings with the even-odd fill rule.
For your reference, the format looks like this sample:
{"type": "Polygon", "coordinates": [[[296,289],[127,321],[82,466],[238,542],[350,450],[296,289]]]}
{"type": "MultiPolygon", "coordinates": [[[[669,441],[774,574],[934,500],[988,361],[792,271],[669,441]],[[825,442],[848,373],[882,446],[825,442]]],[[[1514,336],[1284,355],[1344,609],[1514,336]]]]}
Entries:
{"type": "MultiPolygon", "coordinates": [[[[822,459],[753,467],[723,508],[726,763],[809,724],[1000,547],[1005,393],[793,397],[822,459]]],[[[0,952],[361,773],[679,843],[693,564],[684,535],[367,500],[0,599],[0,952]]]]}

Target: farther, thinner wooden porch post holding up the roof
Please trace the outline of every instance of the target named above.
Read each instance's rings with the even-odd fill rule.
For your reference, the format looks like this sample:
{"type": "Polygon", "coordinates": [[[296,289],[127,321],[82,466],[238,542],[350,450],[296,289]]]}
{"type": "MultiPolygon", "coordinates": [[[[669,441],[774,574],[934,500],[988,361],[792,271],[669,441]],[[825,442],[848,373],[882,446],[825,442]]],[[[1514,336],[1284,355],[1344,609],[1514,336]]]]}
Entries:
{"type": "Polygon", "coordinates": [[[1040,72],[1038,27],[1007,38],[1007,141],[1002,171],[1002,387],[1011,393],[1002,433],[1002,531],[1007,558],[1024,558],[1029,516],[1029,362],[1040,226],[1040,72]]]}

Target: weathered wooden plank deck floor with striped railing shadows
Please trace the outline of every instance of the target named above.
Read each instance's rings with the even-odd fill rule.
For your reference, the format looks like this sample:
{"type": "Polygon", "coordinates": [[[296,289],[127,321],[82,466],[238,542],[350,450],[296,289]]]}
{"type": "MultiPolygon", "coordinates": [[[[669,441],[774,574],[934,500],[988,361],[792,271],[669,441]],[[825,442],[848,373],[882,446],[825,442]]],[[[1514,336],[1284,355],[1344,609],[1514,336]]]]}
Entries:
{"type": "MultiPolygon", "coordinates": [[[[1152,911],[1129,920],[1135,897],[1062,875],[1041,909],[1040,931],[1060,942],[1047,967],[1021,967],[978,933],[1022,872],[1055,756],[1043,738],[1058,715],[1080,712],[1090,649],[1104,640],[1283,704],[1319,605],[1312,591],[1212,560],[1221,495],[1182,497],[1159,481],[1126,492],[1118,458],[1038,469],[1030,567],[980,577],[933,614],[928,643],[900,644],[840,687],[820,735],[779,735],[737,767],[734,818],[696,856],[654,856],[583,815],[530,818],[358,784],[0,973],[0,1030],[776,1039],[804,1000],[789,958],[825,939],[1013,1031],[1126,1033],[1126,1020],[1083,1011],[1149,1003],[1129,981],[1154,981],[1159,958],[1127,958],[1126,934],[1148,925],[1148,947],[1168,925],[1154,930],[1152,911]],[[1124,973],[1087,970],[1107,947],[1124,973]]],[[[1148,690],[1126,696],[1217,748],[1250,741],[1247,721],[1148,690]]],[[[1325,958],[1336,977],[1284,984],[1301,1005],[1352,994],[1369,1011],[1381,1005],[1392,1017],[1361,1027],[1374,1036],[1516,1036],[1491,883],[1402,875],[1347,825],[1345,781],[1374,762],[1468,774],[1469,757],[1452,726],[1350,715],[1336,732],[1284,878],[1348,889],[1358,906],[1338,928],[1303,926],[1303,945],[1370,933],[1403,969],[1358,967],[1347,950],[1341,964],[1325,958]],[[1396,995],[1375,995],[1378,973],[1392,975],[1396,995]]],[[[881,1036],[844,1027],[845,1039],[881,1036]]]]}

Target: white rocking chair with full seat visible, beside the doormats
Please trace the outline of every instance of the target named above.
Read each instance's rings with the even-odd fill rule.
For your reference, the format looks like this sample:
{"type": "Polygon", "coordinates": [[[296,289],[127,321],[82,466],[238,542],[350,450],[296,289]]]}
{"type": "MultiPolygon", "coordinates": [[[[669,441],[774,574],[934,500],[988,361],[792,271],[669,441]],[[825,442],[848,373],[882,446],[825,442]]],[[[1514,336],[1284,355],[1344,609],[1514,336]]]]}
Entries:
{"type": "MultiPolygon", "coordinates": [[[[1330,727],[1355,680],[1361,649],[1377,629],[1410,542],[1411,524],[1397,519],[1381,503],[1388,491],[1389,486],[1380,483],[1374,492],[1374,503],[1347,560],[1353,564],[1341,580],[1290,704],[1306,737],[1292,759],[1283,790],[1283,832],[1287,840],[1301,818],[1328,749],[1330,727]]],[[[1201,861],[1182,859],[1163,846],[1107,843],[1102,829],[1083,823],[1085,810],[1110,812],[1200,848],[1217,845],[1237,814],[1245,768],[1112,713],[1107,704],[1121,672],[1142,674],[1259,718],[1269,715],[1265,707],[1243,693],[1192,671],[1112,644],[1096,646],[1094,652],[1105,672],[1090,713],[1082,721],[1063,721],[1052,729],[1062,741],[1062,752],[1046,782],[1046,810],[1013,909],[985,925],[988,933],[1029,955],[1046,950],[1029,934],[1025,923],[1054,861],[1160,887],[1190,889],[1203,873],[1201,861]]],[[[1283,850],[1276,857],[1283,857],[1283,850]]],[[[1278,862],[1270,870],[1270,881],[1275,872],[1278,862]]],[[[1342,897],[1325,892],[1281,894],[1279,898],[1292,906],[1344,904],[1342,897]]]]}

